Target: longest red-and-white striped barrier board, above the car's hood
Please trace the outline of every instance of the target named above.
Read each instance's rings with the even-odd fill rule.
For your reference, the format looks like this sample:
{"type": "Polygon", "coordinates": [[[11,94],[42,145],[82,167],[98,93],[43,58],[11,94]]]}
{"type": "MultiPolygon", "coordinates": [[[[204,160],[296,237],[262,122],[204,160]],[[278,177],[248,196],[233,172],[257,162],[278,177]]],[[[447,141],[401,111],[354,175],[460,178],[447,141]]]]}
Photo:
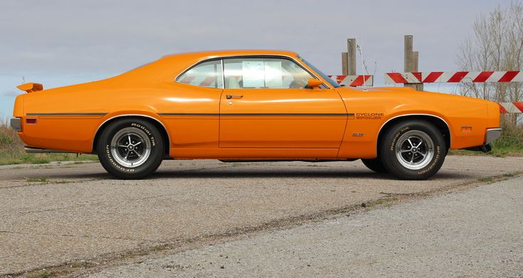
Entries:
{"type": "Polygon", "coordinates": [[[386,83],[523,82],[523,71],[435,71],[386,73],[386,83]]]}

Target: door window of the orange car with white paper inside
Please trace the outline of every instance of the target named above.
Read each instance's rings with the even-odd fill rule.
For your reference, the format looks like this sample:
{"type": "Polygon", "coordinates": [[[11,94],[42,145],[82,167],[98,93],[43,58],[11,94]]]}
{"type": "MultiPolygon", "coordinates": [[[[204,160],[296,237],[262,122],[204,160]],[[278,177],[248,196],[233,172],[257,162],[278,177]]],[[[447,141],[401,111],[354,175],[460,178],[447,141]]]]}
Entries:
{"type": "Polygon", "coordinates": [[[314,78],[300,65],[283,58],[223,60],[226,89],[303,89],[314,78]]]}

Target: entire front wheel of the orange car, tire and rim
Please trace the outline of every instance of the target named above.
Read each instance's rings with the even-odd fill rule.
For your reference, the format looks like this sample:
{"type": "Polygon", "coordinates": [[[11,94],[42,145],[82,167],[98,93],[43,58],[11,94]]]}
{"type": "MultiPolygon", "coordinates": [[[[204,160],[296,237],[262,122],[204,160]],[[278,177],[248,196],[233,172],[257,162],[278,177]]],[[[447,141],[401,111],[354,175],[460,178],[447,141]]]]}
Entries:
{"type": "Polygon", "coordinates": [[[408,120],[386,130],[380,144],[381,162],[394,176],[424,180],[437,173],[448,147],[441,132],[430,122],[408,120]]]}

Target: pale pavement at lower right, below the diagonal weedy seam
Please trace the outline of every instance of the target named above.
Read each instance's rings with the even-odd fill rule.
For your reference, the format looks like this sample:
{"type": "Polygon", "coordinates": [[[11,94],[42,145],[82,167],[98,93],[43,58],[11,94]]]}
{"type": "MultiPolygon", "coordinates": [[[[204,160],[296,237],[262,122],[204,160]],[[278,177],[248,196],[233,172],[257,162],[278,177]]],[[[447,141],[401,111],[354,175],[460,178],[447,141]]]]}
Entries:
{"type": "Polygon", "coordinates": [[[523,178],[89,277],[523,277],[523,178]]]}

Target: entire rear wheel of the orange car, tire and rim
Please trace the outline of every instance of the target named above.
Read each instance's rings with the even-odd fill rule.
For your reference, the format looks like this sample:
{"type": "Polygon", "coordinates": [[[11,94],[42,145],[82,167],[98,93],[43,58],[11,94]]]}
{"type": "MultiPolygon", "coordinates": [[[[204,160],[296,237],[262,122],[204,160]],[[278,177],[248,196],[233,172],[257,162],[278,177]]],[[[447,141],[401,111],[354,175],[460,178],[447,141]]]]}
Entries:
{"type": "Polygon", "coordinates": [[[122,179],[140,179],[152,174],[162,164],[164,149],[162,134],[143,119],[112,122],[97,141],[103,168],[122,179]]]}

